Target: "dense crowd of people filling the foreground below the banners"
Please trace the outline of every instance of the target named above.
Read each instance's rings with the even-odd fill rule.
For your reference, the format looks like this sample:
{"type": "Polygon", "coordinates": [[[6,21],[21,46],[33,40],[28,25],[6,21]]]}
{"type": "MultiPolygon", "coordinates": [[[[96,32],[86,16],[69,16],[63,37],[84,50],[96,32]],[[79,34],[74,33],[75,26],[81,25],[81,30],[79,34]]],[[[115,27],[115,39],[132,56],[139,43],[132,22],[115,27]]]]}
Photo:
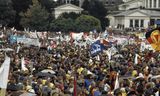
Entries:
{"type": "MultiPolygon", "coordinates": [[[[20,46],[19,52],[7,52],[11,58],[7,96],[26,92],[35,96],[159,96],[159,52],[141,52],[138,44],[116,45],[117,52],[109,60],[106,52],[92,57],[90,46],[59,41],[48,49],[49,42],[43,47],[25,46],[11,44],[9,35],[5,36],[1,48],[20,46]],[[27,70],[21,70],[23,57],[27,70]]],[[[0,57],[3,63],[4,52],[0,57]]]]}

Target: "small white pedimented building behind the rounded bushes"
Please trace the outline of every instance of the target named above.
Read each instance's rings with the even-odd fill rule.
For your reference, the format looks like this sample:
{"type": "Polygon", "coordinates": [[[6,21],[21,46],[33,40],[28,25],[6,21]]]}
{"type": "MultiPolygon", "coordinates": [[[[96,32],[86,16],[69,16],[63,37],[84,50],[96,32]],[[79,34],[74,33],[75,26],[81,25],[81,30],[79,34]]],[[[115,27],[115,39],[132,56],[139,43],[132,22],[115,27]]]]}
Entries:
{"type": "Polygon", "coordinates": [[[58,18],[58,16],[60,16],[62,13],[65,13],[65,12],[81,13],[82,11],[83,11],[82,8],[75,6],[73,4],[64,4],[55,8],[54,15],[55,15],[55,18],[58,18]]]}

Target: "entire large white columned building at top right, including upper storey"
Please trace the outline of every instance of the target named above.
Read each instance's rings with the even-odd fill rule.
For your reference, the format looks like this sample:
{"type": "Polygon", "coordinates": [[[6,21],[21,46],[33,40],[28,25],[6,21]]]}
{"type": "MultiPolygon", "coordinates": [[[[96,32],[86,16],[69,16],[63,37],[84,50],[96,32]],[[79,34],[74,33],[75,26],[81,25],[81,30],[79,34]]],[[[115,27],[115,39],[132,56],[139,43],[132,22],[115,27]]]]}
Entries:
{"type": "Polygon", "coordinates": [[[160,0],[125,0],[118,14],[110,14],[110,26],[122,28],[147,28],[160,20],[160,0]],[[155,3],[156,2],[156,3],[155,3]]]}

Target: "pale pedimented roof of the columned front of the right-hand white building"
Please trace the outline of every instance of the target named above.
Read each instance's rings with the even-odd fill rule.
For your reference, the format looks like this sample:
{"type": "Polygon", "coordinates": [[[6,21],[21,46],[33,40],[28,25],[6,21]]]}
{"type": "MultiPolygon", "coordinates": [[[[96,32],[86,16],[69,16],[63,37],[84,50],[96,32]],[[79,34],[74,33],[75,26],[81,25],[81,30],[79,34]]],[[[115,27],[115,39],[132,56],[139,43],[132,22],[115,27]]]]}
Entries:
{"type": "Polygon", "coordinates": [[[134,10],[126,10],[124,12],[121,12],[119,14],[116,14],[114,16],[118,17],[118,16],[128,16],[130,14],[133,14],[135,12],[139,12],[139,13],[142,13],[146,16],[149,16],[149,17],[156,17],[156,16],[160,16],[160,11],[156,11],[156,10],[147,10],[147,9],[134,9],[134,10]]]}

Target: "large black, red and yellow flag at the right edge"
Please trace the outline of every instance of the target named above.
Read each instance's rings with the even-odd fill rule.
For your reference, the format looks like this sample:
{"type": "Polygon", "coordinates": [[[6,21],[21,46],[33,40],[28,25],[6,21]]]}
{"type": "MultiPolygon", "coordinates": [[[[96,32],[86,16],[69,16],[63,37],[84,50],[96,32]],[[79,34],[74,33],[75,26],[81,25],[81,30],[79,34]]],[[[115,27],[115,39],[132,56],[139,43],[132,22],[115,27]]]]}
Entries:
{"type": "Polygon", "coordinates": [[[160,51],[160,28],[148,31],[146,39],[155,51],[160,51]]]}

